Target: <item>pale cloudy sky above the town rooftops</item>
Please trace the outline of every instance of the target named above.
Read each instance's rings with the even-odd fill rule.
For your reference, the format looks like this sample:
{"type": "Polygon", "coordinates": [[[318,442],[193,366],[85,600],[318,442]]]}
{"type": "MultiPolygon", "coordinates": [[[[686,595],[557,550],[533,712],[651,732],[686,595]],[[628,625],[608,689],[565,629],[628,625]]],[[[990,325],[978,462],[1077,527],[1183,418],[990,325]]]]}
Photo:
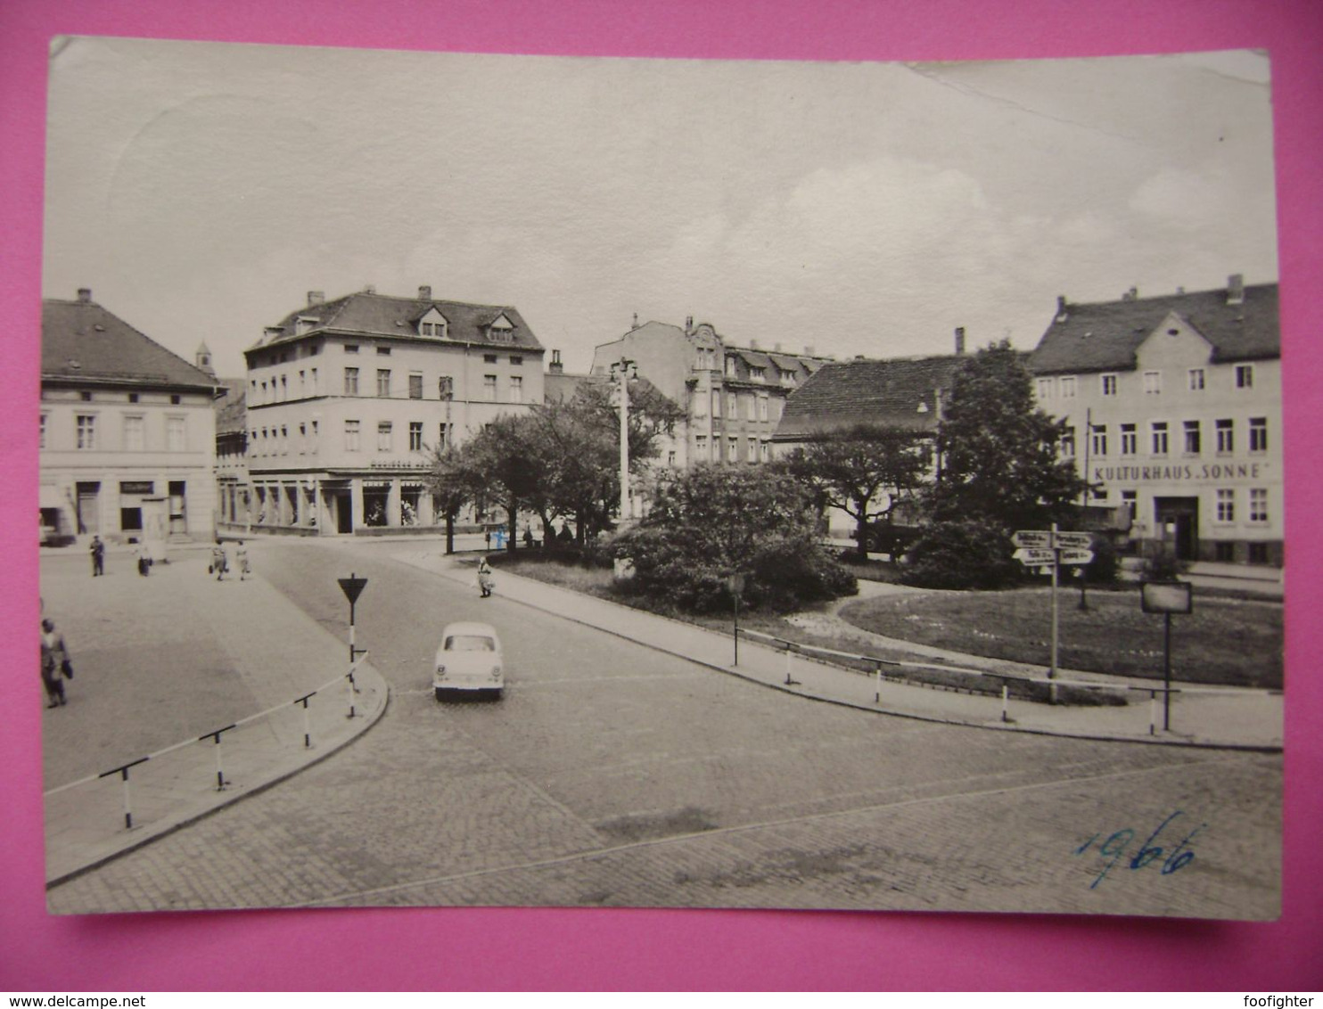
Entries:
{"type": "MultiPolygon", "coordinates": [[[[66,38],[42,294],[243,373],[373,284],[513,305],[566,370],[640,323],[837,358],[1031,349],[1058,295],[1277,280],[1252,52],[730,62],[66,38]]],[[[550,356],[548,354],[548,360],[550,356]]]]}

